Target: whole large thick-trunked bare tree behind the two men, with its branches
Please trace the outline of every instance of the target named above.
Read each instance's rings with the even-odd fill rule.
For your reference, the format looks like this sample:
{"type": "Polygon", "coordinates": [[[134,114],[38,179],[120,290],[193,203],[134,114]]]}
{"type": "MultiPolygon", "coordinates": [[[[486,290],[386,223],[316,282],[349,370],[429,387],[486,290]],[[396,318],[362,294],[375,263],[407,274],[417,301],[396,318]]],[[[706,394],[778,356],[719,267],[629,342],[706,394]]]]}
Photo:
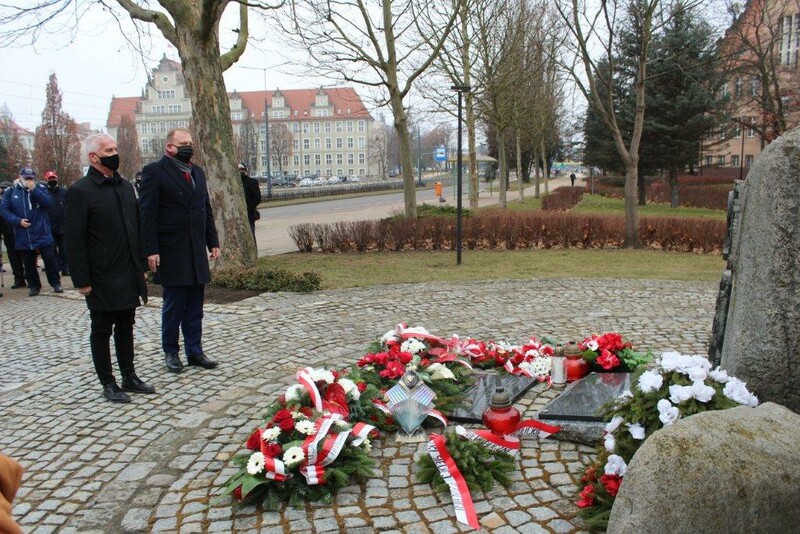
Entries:
{"type": "MultiPolygon", "coordinates": [[[[228,265],[251,265],[256,248],[247,223],[244,193],[236,172],[236,154],[230,105],[222,73],[244,53],[247,45],[248,6],[268,9],[266,2],[248,0],[116,0],[136,24],[152,24],[178,51],[192,103],[192,118],[199,155],[206,163],[209,193],[217,232],[222,243],[222,261],[228,265]],[[233,47],[220,53],[219,23],[230,4],[238,3],[238,37],[233,47]],[[157,9],[160,6],[161,9],[157,9]]],[[[100,6],[120,25],[119,9],[110,2],[90,0],[32,0],[25,7],[0,6],[0,44],[33,42],[51,25],[77,32],[78,18],[100,6]]],[[[141,26],[137,26],[140,28],[141,26]]],[[[135,39],[129,38],[129,39],[135,39]]]]}

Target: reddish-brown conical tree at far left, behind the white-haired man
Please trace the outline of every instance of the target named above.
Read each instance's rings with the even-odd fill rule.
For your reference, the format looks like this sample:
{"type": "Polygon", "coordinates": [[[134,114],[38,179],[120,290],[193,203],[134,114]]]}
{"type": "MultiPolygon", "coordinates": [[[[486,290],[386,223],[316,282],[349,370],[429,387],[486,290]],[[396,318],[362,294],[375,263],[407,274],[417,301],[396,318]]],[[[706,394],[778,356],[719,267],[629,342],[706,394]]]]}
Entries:
{"type": "Polygon", "coordinates": [[[42,124],[36,128],[33,166],[42,173],[55,171],[63,184],[71,184],[81,176],[78,125],[62,108],[55,74],[50,74],[46,92],[42,124]]]}

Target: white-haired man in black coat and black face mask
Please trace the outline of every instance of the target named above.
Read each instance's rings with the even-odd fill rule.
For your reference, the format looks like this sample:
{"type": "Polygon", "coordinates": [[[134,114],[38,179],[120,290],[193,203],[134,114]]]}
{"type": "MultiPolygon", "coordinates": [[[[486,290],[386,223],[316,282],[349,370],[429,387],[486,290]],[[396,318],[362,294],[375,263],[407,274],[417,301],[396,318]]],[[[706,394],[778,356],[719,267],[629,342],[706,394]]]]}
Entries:
{"type": "Polygon", "coordinates": [[[73,285],[89,308],[92,360],[103,396],[111,402],[130,402],[125,391],[155,393],[136,376],[133,365],[136,307],[139,299],[147,302],[139,206],[133,186],[117,173],[119,155],[113,137],[90,135],[83,153],[90,167],[67,194],[65,248],[73,285]],[[111,371],[112,328],[122,389],[111,371]]]}

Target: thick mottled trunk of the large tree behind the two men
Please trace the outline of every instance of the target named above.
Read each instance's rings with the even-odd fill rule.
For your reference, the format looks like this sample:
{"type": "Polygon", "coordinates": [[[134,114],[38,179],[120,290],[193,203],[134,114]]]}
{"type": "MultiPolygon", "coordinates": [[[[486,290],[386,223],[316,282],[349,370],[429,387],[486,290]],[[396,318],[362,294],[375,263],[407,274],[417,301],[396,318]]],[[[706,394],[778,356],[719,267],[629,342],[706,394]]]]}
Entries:
{"type": "Polygon", "coordinates": [[[209,196],[217,223],[222,252],[217,265],[255,265],[256,246],[236,170],[230,105],[222,81],[216,33],[212,32],[207,41],[198,42],[193,28],[178,25],[176,34],[186,91],[192,103],[195,142],[206,162],[209,196]]]}

